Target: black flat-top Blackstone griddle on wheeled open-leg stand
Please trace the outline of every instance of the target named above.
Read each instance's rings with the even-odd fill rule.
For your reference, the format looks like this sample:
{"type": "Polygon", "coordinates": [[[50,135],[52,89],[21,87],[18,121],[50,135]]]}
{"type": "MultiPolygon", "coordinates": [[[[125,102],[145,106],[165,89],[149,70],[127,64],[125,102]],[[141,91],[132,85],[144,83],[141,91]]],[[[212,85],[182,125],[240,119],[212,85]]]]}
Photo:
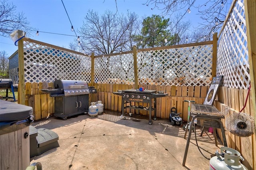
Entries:
{"type": "Polygon", "coordinates": [[[149,125],[152,125],[152,111],[154,111],[154,120],[156,120],[156,98],[158,97],[165,97],[168,96],[168,93],[158,92],[156,93],[155,90],[136,90],[136,89],[129,89],[129,90],[122,90],[118,92],[113,92],[116,95],[122,96],[122,116],[123,119],[126,119],[124,115],[124,109],[138,109],[138,110],[146,110],[149,112],[149,125]],[[133,106],[131,105],[132,102],[140,102],[140,103],[148,103],[148,107],[143,106],[133,106]],[[154,106],[152,105],[154,103],[154,106]]]}

